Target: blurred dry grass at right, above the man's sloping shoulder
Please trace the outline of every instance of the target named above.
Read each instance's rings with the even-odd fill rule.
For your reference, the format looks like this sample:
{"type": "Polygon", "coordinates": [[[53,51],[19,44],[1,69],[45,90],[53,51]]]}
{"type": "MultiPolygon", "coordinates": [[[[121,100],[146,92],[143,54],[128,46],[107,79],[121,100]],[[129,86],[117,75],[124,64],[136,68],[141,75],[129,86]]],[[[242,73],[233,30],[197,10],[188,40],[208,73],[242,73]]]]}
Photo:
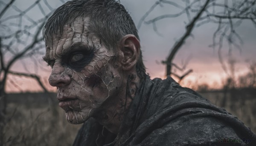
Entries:
{"type": "Polygon", "coordinates": [[[245,126],[256,133],[256,89],[201,93],[216,106],[238,117],[245,126]],[[225,98],[224,98],[225,97],[225,98]]]}

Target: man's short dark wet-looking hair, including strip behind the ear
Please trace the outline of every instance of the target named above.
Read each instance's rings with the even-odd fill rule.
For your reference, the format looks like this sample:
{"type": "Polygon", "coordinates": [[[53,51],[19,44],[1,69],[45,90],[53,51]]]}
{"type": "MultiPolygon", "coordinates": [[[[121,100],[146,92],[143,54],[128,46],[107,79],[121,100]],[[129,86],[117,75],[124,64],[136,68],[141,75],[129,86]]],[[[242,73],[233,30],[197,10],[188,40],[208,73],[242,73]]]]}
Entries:
{"type": "MultiPolygon", "coordinates": [[[[64,25],[73,23],[79,16],[90,17],[89,31],[102,39],[108,49],[114,50],[126,34],[133,34],[140,40],[130,14],[116,0],[72,0],[65,3],[49,17],[43,29],[44,38],[52,39],[52,33],[62,34],[64,25]]],[[[144,78],[141,53],[136,69],[139,77],[144,78]]]]}

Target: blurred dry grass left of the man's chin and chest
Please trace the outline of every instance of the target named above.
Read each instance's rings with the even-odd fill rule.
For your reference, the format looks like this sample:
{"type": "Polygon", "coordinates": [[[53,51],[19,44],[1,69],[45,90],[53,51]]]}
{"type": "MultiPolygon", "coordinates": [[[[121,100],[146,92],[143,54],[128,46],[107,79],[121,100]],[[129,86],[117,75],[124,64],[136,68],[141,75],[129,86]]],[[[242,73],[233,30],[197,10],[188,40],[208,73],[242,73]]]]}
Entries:
{"type": "MultiPolygon", "coordinates": [[[[32,95],[33,96],[33,95],[32,95]]],[[[35,95],[34,95],[35,96],[35,95]]],[[[32,97],[7,105],[3,146],[71,146],[81,125],[72,125],[54,102],[32,97]]],[[[40,97],[41,98],[41,97],[40,97]]],[[[13,100],[14,98],[12,98],[13,100]]]]}

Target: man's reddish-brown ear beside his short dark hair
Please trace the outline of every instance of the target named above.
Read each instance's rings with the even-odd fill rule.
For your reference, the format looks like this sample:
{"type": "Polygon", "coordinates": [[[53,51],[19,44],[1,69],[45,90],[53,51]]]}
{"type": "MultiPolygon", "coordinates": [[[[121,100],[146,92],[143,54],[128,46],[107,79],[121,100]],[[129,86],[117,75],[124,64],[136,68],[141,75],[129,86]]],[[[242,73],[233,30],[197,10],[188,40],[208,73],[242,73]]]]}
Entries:
{"type": "Polygon", "coordinates": [[[140,41],[134,35],[127,34],[119,42],[119,50],[122,54],[122,69],[132,69],[136,65],[140,56],[140,41]]]}

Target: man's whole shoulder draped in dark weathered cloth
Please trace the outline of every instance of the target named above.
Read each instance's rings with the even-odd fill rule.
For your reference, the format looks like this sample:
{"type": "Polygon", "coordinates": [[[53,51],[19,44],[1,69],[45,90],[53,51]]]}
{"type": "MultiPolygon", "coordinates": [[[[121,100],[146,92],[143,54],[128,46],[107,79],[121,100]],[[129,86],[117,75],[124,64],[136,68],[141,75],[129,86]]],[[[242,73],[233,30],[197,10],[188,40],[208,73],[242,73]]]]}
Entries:
{"type": "Polygon", "coordinates": [[[197,92],[172,78],[152,82],[147,108],[152,114],[132,134],[131,145],[220,145],[221,138],[240,140],[231,145],[246,145],[243,138],[256,142],[256,135],[240,120],[197,92]]]}

